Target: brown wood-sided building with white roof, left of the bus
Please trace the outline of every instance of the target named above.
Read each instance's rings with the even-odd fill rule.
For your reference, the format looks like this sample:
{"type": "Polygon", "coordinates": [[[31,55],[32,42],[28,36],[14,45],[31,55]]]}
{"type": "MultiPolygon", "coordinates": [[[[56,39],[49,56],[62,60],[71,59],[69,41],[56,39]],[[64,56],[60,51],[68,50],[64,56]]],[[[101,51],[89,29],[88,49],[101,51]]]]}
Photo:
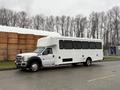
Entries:
{"type": "Polygon", "coordinates": [[[46,36],[60,36],[56,32],[0,26],[0,60],[15,60],[16,54],[31,52],[37,40],[46,36]]]}

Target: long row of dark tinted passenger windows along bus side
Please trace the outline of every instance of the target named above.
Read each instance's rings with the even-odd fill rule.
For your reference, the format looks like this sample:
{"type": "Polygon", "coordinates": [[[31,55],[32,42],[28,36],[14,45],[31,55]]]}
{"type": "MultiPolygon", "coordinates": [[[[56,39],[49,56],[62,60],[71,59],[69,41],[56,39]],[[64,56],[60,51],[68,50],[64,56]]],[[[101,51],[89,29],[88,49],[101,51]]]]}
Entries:
{"type": "Polygon", "coordinates": [[[102,42],[59,40],[59,49],[102,49],[102,42]]]}

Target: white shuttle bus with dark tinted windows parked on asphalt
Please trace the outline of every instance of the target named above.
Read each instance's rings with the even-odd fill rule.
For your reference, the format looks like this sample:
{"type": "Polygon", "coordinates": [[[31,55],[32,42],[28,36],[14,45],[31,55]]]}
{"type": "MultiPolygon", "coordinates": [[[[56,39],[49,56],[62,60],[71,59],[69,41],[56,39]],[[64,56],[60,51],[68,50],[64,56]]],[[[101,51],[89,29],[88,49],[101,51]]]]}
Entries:
{"type": "Polygon", "coordinates": [[[42,67],[63,64],[90,66],[93,61],[103,60],[103,45],[100,39],[72,37],[44,37],[38,40],[31,53],[16,56],[16,66],[22,70],[38,71],[42,67]]]}

